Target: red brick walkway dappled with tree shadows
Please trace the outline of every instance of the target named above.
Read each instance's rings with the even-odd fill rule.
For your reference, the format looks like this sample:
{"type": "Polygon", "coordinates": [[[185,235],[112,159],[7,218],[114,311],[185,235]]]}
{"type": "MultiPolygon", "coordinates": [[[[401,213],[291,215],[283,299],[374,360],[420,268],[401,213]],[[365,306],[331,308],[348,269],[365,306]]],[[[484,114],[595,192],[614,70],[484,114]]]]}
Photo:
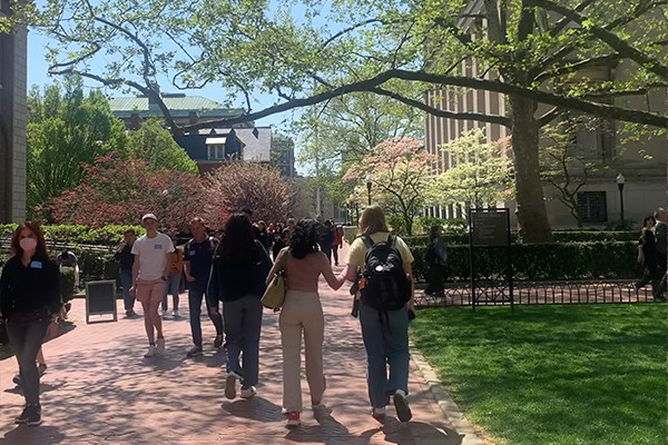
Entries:
{"type": "MultiPolygon", "coordinates": [[[[389,407],[384,425],[371,417],[365,353],[358,322],[350,316],[347,285],[332,291],[321,283],[321,297],[326,325],[326,407],[314,413],[305,404],[299,428],[286,429],[281,414],[277,314],[265,310],[264,315],[257,396],[227,400],[220,367],[224,358],[222,350],[213,347],[215,330],[205,316],[205,355],[186,358],[190,328],[185,294],[181,317],[164,322],[164,358],[143,357],[147,345],[143,318],[86,325],[86,301],[76,299],[70,312],[76,328],[45,345],[49,369],[41,383],[41,426],[13,424],[23,404],[11,382],[17,364],[13,357],[0,362],[0,444],[481,443],[462,426],[460,433],[454,429],[430,392],[428,380],[433,377],[423,377],[415,360],[411,362],[409,397],[413,419],[399,423],[393,407],[389,407]]],[[[121,300],[118,308],[121,317],[121,300]]],[[[306,403],[310,396],[305,379],[303,389],[306,403]]],[[[451,418],[459,418],[458,413],[451,418]]],[[[454,424],[460,425],[456,421],[454,424]]]]}

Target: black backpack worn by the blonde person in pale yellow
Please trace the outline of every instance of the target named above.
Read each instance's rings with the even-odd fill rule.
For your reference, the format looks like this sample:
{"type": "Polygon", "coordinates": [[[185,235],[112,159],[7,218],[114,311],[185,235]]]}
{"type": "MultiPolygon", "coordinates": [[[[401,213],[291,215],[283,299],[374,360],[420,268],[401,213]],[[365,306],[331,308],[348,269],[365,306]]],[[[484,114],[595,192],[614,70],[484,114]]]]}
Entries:
{"type": "Polygon", "coordinates": [[[367,248],[363,273],[366,283],[361,290],[364,303],[381,312],[402,308],[411,299],[411,286],[396,239],[389,235],[386,241],[377,244],[367,236],[362,240],[367,248]]]}

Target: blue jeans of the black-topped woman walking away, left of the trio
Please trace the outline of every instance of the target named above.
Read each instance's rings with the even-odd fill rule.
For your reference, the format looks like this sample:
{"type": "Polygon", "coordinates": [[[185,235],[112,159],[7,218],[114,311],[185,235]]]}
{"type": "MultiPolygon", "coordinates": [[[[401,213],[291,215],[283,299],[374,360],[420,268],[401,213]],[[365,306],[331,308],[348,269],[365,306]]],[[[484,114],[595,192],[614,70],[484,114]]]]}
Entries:
{"type": "Polygon", "coordinates": [[[239,375],[242,386],[246,388],[257,385],[262,312],[262,303],[257,295],[246,295],[223,303],[227,338],[227,372],[239,375]],[[239,363],[239,355],[243,356],[243,366],[239,363]]]}

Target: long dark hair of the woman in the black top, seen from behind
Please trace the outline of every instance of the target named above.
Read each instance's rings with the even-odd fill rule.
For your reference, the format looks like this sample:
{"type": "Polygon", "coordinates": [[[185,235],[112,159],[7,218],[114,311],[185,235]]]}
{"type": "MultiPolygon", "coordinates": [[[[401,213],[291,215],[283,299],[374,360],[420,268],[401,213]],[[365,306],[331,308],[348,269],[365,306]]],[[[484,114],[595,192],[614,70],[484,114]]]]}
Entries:
{"type": "Polygon", "coordinates": [[[261,259],[255,245],[253,226],[244,214],[234,214],[225,224],[225,230],[218,247],[223,264],[247,265],[261,259]]]}

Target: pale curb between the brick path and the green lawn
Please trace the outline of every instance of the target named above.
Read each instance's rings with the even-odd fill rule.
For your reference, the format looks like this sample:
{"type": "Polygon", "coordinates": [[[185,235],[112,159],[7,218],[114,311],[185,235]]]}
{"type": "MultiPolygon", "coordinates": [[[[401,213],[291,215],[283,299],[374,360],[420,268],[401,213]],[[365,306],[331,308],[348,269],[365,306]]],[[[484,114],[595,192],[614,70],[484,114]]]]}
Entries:
{"type": "Polygon", "coordinates": [[[454,431],[462,437],[461,445],[490,445],[490,442],[481,438],[475,432],[473,425],[471,425],[471,423],[464,418],[461,409],[459,406],[456,406],[452,397],[450,397],[450,394],[445,390],[441,384],[441,380],[439,380],[436,373],[429,365],[424,356],[418,350],[413,342],[409,343],[409,348],[411,352],[411,359],[422,374],[430,393],[435,398],[436,404],[443,412],[443,415],[454,427],[454,431]]]}

